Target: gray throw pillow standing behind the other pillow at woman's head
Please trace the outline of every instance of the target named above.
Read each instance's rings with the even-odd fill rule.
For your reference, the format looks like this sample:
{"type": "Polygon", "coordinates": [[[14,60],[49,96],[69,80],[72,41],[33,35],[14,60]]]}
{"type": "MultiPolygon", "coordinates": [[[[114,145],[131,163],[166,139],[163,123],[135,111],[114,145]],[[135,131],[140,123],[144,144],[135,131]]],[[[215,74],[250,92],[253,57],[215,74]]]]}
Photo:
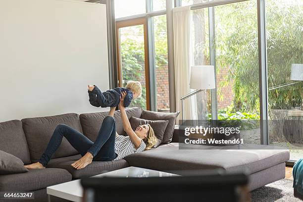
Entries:
{"type": "Polygon", "coordinates": [[[143,110],[141,118],[147,120],[168,120],[168,125],[164,132],[162,144],[170,143],[172,140],[172,136],[175,128],[176,117],[179,115],[180,111],[175,113],[167,113],[167,112],[155,112],[155,111],[147,111],[143,110]]]}

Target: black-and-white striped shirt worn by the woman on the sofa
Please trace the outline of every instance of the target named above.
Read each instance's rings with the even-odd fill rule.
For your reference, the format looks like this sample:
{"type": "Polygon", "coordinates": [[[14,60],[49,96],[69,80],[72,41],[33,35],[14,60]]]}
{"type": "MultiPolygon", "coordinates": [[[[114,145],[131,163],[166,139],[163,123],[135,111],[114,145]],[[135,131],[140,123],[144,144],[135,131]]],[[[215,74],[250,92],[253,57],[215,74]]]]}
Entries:
{"type": "Polygon", "coordinates": [[[136,150],[135,145],[129,136],[117,135],[115,141],[115,153],[117,154],[117,157],[114,160],[122,159],[132,153],[143,152],[145,148],[146,145],[143,140],[139,148],[136,150]]]}

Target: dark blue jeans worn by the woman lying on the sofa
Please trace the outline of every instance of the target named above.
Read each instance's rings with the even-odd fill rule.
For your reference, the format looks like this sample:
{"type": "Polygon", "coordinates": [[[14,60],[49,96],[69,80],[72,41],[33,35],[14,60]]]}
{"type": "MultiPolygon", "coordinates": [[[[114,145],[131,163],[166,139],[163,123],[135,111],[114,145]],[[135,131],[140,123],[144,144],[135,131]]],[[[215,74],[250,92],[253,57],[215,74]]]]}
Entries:
{"type": "Polygon", "coordinates": [[[115,153],[116,122],[112,116],[104,118],[95,143],[75,129],[59,124],[50,138],[46,151],[38,160],[42,165],[46,166],[48,164],[51,156],[59,148],[63,137],[82,156],[86,152],[92,153],[93,161],[110,161],[117,157],[115,153]]]}

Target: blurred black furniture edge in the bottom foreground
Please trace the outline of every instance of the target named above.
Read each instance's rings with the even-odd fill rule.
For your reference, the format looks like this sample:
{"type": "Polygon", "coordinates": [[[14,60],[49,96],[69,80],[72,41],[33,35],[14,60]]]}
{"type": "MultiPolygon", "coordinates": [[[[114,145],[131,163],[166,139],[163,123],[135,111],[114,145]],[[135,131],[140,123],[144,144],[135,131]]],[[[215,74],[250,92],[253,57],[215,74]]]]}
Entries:
{"type": "Polygon", "coordinates": [[[198,176],[149,178],[85,178],[84,202],[249,202],[248,178],[244,174],[214,172],[198,176]],[[117,193],[119,190],[119,194],[117,193]]]}

